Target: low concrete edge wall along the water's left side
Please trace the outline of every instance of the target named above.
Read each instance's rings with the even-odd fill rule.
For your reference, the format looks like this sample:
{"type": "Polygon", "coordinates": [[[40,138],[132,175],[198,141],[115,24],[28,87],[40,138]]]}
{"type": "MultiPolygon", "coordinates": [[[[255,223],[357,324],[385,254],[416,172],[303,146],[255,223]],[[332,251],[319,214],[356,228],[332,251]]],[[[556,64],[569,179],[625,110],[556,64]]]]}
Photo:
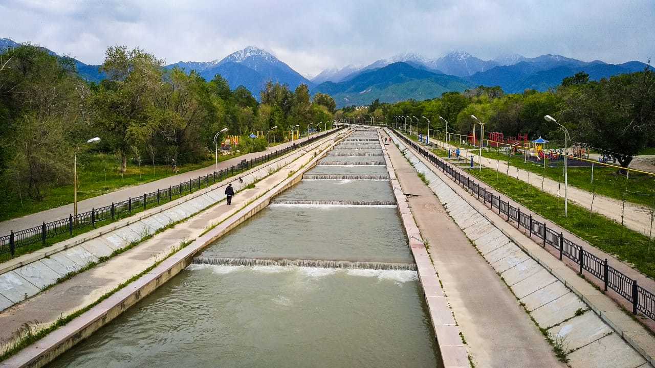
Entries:
{"type": "Polygon", "coordinates": [[[345,138],[350,132],[341,132],[337,137],[326,138],[314,145],[314,149],[301,149],[305,153],[294,159],[284,168],[277,168],[277,172],[269,173],[269,179],[277,183],[265,191],[258,198],[253,199],[243,208],[230,217],[227,217],[215,227],[207,229],[190,244],[170,257],[161,261],[154,268],[143,274],[134,282],[119,289],[100,303],[96,304],[79,317],[66,325],[59,327],[52,333],[24,348],[11,358],[0,362],[0,368],[43,367],[80,340],[89,337],[94,331],[119,316],[124,310],[134,305],[143,297],[152,293],[157,287],[165,284],[170,278],[176,276],[193,261],[193,257],[220,238],[229,230],[234,229],[246,219],[259,212],[271,201],[276,194],[301,181],[303,173],[312,168],[331,147],[345,138]],[[336,139],[335,139],[336,138],[336,139]],[[329,139],[332,139],[329,142],[329,139]]]}

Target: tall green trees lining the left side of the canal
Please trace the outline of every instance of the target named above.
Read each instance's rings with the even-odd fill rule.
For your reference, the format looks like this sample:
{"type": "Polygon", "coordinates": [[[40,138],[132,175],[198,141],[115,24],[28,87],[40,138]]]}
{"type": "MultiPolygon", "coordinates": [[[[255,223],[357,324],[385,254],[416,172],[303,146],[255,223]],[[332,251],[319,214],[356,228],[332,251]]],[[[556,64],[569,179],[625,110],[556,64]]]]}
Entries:
{"type": "MultiPolygon", "coordinates": [[[[242,153],[263,151],[265,138],[253,132],[278,132],[296,124],[330,120],[334,100],[312,99],[301,84],[263,86],[260,101],[244,86],[231,90],[216,75],[206,81],[195,71],[166,69],[164,61],[138,48],[111,46],[101,70],[107,79],[84,81],[71,58],[22,45],[0,54],[0,180],[3,187],[40,198],[45,185],[71,183],[73,154],[92,149],[116,155],[117,170],[130,162],[179,164],[212,157],[214,135],[244,136],[242,153]]],[[[224,137],[224,136],[223,136],[224,137]]],[[[6,193],[7,195],[7,193],[6,193]]]]}

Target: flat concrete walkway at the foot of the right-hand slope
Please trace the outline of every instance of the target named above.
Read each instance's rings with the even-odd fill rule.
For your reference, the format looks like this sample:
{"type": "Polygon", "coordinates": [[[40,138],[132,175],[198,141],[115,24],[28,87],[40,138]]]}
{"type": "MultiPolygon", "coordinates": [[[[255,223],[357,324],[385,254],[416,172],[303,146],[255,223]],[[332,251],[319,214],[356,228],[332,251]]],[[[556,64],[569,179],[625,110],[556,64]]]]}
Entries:
{"type": "MultiPolygon", "coordinates": [[[[386,136],[386,134],[384,135],[386,136]]],[[[563,367],[495,270],[394,145],[388,153],[476,367],[563,367]]]]}

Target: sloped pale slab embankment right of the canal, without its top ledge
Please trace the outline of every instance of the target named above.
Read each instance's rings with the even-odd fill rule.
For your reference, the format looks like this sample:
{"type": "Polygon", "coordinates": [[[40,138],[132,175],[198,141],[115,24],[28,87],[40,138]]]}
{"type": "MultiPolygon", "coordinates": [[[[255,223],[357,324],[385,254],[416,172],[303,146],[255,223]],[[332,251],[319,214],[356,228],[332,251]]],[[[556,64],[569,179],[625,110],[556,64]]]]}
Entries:
{"type": "Polygon", "coordinates": [[[388,133],[405,151],[417,172],[425,175],[430,189],[449,215],[510,287],[534,322],[567,354],[571,367],[652,367],[650,356],[643,356],[643,350],[637,352],[565,282],[525,253],[447,185],[436,168],[433,171],[400,139],[388,133]]]}

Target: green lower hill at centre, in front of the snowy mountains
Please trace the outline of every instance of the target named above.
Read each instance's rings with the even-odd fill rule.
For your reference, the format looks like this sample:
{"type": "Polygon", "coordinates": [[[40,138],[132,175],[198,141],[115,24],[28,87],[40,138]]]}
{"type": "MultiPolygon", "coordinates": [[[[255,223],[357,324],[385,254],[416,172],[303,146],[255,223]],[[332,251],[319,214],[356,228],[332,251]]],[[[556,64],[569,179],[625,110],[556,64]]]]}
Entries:
{"type": "Polygon", "coordinates": [[[330,94],[337,102],[337,107],[343,107],[352,104],[367,105],[375,99],[384,102],[409,98],[426,100],[441,96],[443,92],[463,91],[467,88],[472,88],[472,84],[459,77],[432,73],[405,62],[396,62],[365,71],[341,83],[322,83],[312,92],[330,94]]]}

